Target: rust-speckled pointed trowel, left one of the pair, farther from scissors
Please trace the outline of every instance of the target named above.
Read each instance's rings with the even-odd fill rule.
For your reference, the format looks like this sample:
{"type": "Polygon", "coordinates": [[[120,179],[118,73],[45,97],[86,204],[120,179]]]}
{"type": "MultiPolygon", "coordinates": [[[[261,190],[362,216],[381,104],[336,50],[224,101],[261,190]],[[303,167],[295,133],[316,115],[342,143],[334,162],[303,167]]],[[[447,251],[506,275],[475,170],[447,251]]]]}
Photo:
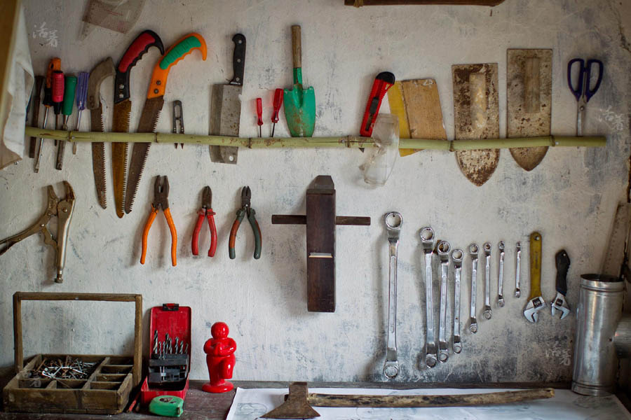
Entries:
{"type": "MultiPolygon", "coordinates": [[[[497,64],[457,64],[452,76],[456,140],[499,137],[497,64]]],[[[499,149],[456,151],[456,160],[467,179],[482,186],[495,172],[499,153],[499,149]]]]}

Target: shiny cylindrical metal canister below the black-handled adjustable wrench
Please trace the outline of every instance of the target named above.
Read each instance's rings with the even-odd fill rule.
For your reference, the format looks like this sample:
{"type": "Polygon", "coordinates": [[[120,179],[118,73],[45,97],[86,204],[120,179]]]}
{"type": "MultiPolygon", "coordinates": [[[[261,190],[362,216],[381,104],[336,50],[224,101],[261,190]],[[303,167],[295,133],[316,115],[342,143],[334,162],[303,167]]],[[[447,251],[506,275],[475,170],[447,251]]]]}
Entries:
{"type": "Polygon", "coordinates": [[[613,344],[622,316],[625,283],[604,274],[583,274],[576,308],[572,391],[609,395],[616,384],[618,359],[613,344]]]}

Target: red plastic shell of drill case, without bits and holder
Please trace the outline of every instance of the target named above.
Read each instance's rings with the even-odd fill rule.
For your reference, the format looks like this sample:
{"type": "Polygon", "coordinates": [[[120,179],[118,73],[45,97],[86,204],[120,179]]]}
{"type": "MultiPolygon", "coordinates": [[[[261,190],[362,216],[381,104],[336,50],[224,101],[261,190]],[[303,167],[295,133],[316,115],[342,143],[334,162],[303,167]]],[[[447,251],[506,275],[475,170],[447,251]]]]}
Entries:
{"type": "MultiPolygon", "coordinates": [[[[177,303],[165,303],[161,307],[151,308],[151,321],[149,321],[149,358],[153,352],[154,334],[158,331],[158,341],[163,341],[168,332],[170,337],[179,337],[188,345],[189,367],[191,365],[191,308],[181,307],[177,303]]],[[[190,372],[190,368],[189,368],[190,372]]],[[[189,372],[186,372],[186,379],[173,382],[164,386],[154,386],[149,384],[149,376],[144,378],[140,388],[140,400],[143,405],[149,404],[151,400],[160,395],[175,395],[186,398],[186,391],[189,390],[189,372]]]]}

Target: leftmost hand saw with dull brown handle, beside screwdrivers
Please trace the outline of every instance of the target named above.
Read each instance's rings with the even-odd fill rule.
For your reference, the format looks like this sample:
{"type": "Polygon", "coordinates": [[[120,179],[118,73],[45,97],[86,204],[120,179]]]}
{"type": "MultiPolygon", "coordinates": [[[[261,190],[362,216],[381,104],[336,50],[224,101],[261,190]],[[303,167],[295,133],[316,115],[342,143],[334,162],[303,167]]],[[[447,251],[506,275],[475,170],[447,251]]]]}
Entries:
{"type": "MultiPolygon", "coordinates": [[[[90,110],[90,130],[92,131],[105,131],[103,127],[103,106],[100,99],[101,83],[105,78],[115,74],[116,69],[114,69],[114,62],[111,57],[107,57],[90,71],[87,102],[90,110]]],[[[77,127],[77,130],[79,130],[79,127],[77,127]]],[[[102,141],[92,144],[92,170],[94,172],[97,198],[101,207],[105,209],[107,207],[105,195],[105,144],[102,141]]]]}

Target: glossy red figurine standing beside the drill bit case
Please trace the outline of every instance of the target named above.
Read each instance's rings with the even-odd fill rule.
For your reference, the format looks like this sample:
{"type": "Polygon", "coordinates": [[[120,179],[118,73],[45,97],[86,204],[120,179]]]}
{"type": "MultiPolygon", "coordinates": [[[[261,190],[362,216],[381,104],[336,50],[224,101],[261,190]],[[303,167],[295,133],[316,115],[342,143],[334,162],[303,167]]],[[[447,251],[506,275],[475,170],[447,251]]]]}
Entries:
{"type": "Polygon", "coordinates": [[[231,379],[234,369],[234,352],[236,342],[228,337],[228,325],[224,322],[216,322],[210,328],[212,338],[204,344],[206,364],[210,382],[202,386],[202,391],[222,393],[231,391],[234,385],[224,379],[231,379]]]}

